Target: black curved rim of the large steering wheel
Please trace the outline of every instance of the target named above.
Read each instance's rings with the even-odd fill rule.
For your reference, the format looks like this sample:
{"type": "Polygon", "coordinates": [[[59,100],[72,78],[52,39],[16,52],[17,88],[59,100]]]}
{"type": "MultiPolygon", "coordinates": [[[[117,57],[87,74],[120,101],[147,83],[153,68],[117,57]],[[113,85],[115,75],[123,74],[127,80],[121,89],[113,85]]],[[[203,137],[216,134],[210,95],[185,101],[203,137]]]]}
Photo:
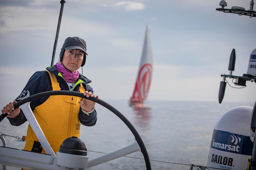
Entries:
{"type": "MultiPolygon", "coordinates": [[[[76,96],[76,97],[81,97],[84,99],[88,99],[88,100],[92,100],[98,104],[100,104],[103,107],[106,107],[108,110],[110,110],[111,112],[113,112],[117,117],[119,117],[124,123],[125,125],[131,130],[132,134],[135,137],[135,140],[137,141],[137,143],[140,146],[140,151],[143,154],[145,163],[146,163],[146,168],[147,170],[151,170],[151,165],[150,165],[150,160],[148,157],[148,152],[147,149],[139,135],[139,133],[137,132],[137,130],[133,127],[132,123],[129,122],[129,120],[122,114],[120,113],[116,108],[114,108],[113,106],[109,105],[108,103],[106,103],[103,100],[100,100],[96,97],[86,97],[84,96],[83,93],[80,92],[72,92],[72,91],[65,91],[65,90],[61,90],[61,91],[50,91],[50,92],[41,92],[41,93],[37,93],[34,94],[32,96],[29,96],[28,98],[25,98],[23,100],[20,100],[19,102],[15,103],[14,109],[20,107],[21,105],[27,103],[27,102],[31,102],[35,99],[41,98],[41,97],[46,97],[46,96],[54,96],[54,95],[68,95],[68,96],[76,96]]],[[[0,115],[0,122],[7,116],[7,114],[2,114],[0,115]]]]}

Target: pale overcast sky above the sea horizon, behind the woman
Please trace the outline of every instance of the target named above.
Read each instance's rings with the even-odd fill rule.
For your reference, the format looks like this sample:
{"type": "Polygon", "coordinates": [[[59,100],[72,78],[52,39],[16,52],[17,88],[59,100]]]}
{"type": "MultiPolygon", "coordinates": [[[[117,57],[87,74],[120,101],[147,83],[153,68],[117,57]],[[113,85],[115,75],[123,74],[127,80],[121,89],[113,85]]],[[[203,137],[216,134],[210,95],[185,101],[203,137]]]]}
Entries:
{"type": "MultiPolygon", "coordinates": [[[[250,8],[250,0],[227,1],[226,8],[250,8]]],[[[256,48],[256,17],[216,11],[219,2],[66,0],[55,63],[68,36],[83,38],[88,53],[83,75],[92,80],[94,93],[103,100],[128,100],[148,25],[153,52],[148,100],[218,102],[220,74],[229,73],[232,49],[233,74],[242,76],[256,48]]],[[[15,99],[35,71],[50,66],[59,12],[59,0],[0,0],[1,103],[6,96],[15,99]]],[[[255,102],[255,83],[246,85],[227,85],[223,102],[255,102]]]]}

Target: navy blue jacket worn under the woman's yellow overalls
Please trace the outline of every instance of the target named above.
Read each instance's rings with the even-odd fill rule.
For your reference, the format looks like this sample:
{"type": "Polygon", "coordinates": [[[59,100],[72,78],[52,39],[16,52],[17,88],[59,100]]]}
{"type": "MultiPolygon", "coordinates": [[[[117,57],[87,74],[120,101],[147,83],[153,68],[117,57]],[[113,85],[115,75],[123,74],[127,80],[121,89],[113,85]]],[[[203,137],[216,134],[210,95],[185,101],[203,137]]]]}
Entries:
{"type": "MultiPolygon", "coordinates": [[[[48,71],[52,72],[54,75],[56,75],[57,81],[59,82],[60,85],[60,90],[69,90],[68,84],[66,83],[66,81],[64,80],[64,78],[58,76],[58,70],[56,69],[56,65],[53,65],[52,68],[47,67],[46,68],[48,71]]],[[[81,77],[81,74],[79,74],[79,77],[81,77]]],[[[88,78],[82,76],[80,78],[84,83],[84,89],[87,90],[88,92],[92,92],[92,87],[90,85],[88,85],[88,83],[91,83],[92,81],[89,80],[88,78]]],[[[77,85],[73,91],[74,92],[79,92],[79,87],[80,85],[77,85]]],[[[20,93],[20,95],[16,98],[16,101],[20,101],[24,98],[27,98],[33,94],[37,94],[40,92],[47,92],[47,91],[52,91],[52,82],[51,82],[51,78],[49,76],[49,74],[47,73],[47,71],[37,71],[36,73],[34,73],[32,75],[31,78],[29,78],[27,85],[25,86],[25,88],[23,89],[23,91],[20,93]]],[[[36,99],[31,101],[30,103],[30,107],[32,110],[35,109],[35,107],[43,104],[47,99],[49,98],[49,96],[47,97],[42,97],[40,99],[36,99]]],[[[92,113],[88,115],[84,114],[80,108],[80,112],[78,114],[79,117],[79,121],[85,125],[85,126],[93,126],[95,125],[96,121],[97,121],[97,112],[94,109],[94,111],[92,113]]],[[[23,124],[24,122],[27,121],[25,115],[23,114],[22,110],[20,110],[20,114],[15,117],[15,118],[9,118],[7,117],[10,121],[10,123],[14,126],[20,126],[21,124],[23,124]]]]}

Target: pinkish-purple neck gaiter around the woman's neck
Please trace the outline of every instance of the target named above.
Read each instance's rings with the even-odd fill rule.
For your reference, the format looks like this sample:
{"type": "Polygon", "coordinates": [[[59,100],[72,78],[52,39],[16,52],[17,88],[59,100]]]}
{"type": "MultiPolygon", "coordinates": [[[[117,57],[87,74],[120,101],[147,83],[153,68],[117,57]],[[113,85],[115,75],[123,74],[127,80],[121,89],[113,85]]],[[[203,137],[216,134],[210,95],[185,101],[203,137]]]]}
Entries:
{"type": "Polygon", "coordinates": [[[60,63],[56,63],[56,68],[60,72],[62,77],[65,79],[65,81],[68,83],[76,82],[76,79],[79,77],[79,72],[77,70],[76,70],[76,72],[71,73],[71,71],[67,70],[60,63]]]}

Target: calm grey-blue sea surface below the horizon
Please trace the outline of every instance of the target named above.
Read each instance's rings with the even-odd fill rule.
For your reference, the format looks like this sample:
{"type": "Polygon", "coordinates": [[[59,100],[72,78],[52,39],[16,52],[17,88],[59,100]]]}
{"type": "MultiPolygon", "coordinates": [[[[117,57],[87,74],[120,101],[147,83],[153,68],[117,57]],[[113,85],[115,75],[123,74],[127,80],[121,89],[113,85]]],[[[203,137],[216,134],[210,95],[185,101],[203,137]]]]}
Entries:
{"type": "MultiPolygon", "coordinates": [[[[119,110],[135,127],[142,138],[149,158],[165,162],[151,161],[152,169],[189,169],[189,164],[206,166],[212,132],[215,123],[228,110],[254,103],[205,101],[147,101],[145,107],[129,107],[126,100],[106,100],[119,110]],[[180,165],[188,164],[188,165],[180,165]]],[[[1,103],[2,107],[2,103],[1,103]]],[[[135,141],[132,132],[112,112],[96,104],[97,123],[95,126],[81,126],[89,159],[98,157],[135,141]]],[[[26,136],[28,123],[19,127],[11,126],[7,119],[0,124],[0,132],[12,136],[26,136]]],[[[7,147],[23,149],[25,142],[13,137],[5,137],[7,147]]],[[[2,144],[0,142],[0,144],[2,144]]],[[[143,158],[141,152],[129,154],[143,158]]],[[[1,169],[2,167],[0,167],[1,169]]],[[[7,169],[15,169],[7,167],[7,169]]],[[[16,168],[17,169],[17,168],[16,168]]],[[[92,170],[146,169],[143,159],[118,158],[89,168],[92,170]]]]}

